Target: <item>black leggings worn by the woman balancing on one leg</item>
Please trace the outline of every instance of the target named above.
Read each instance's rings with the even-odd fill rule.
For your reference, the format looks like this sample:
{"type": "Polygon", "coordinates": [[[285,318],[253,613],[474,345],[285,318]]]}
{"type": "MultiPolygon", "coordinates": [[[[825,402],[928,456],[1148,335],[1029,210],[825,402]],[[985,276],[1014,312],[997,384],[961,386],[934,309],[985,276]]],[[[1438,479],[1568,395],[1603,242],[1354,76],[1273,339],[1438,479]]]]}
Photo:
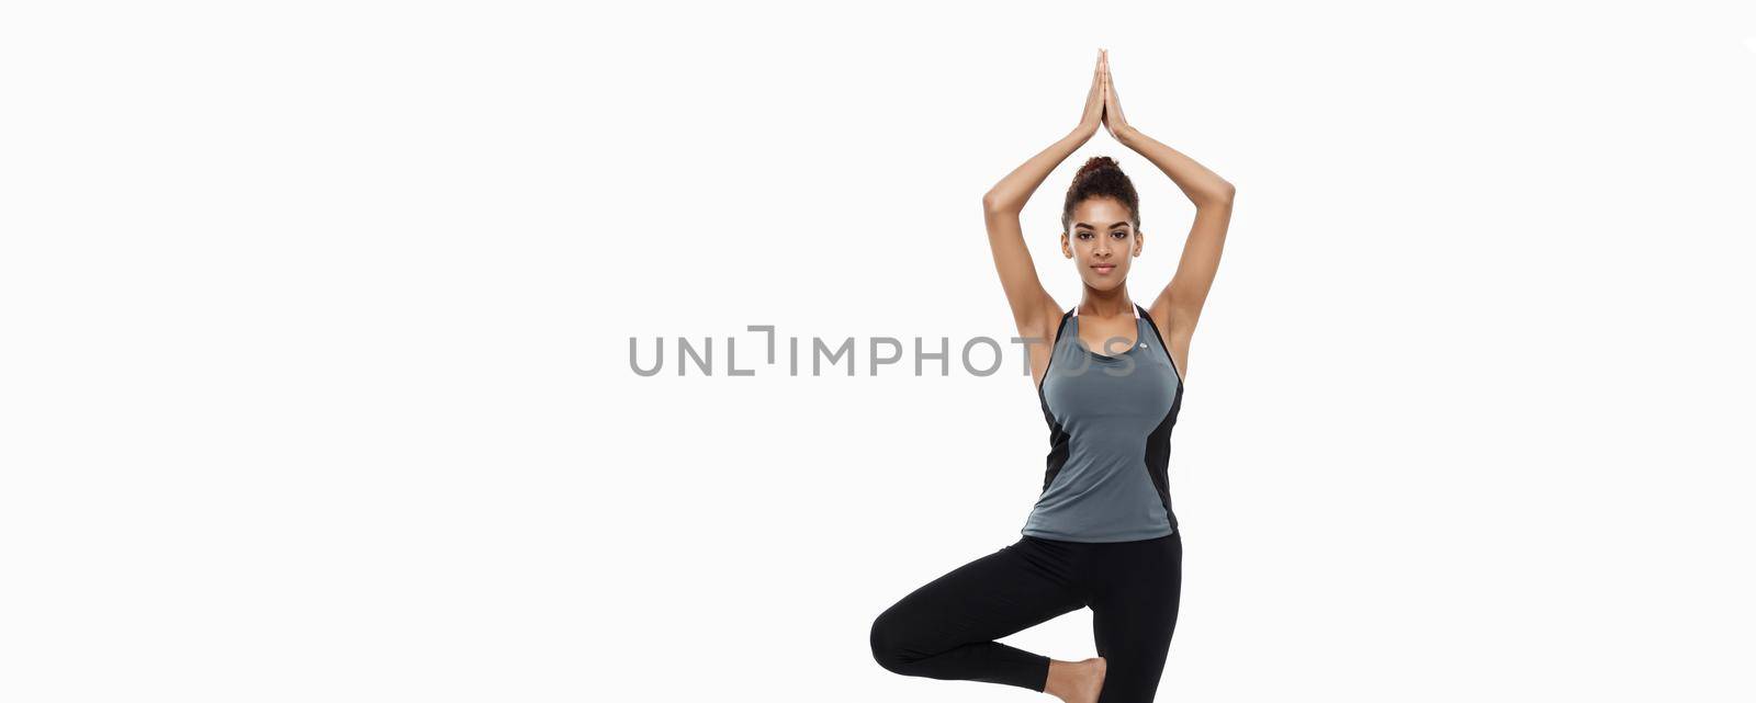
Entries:
{"type": "Polygon", "coordinates": [[[1150,703],[1182,594],[1184,538],[1061,542],[1022,536],[915,589],[873,621],[873,657],[927,678],[1043,691],[1048,657],[996,638],[1080,607],[1105,657],[1098,703],[1150,703]]]}

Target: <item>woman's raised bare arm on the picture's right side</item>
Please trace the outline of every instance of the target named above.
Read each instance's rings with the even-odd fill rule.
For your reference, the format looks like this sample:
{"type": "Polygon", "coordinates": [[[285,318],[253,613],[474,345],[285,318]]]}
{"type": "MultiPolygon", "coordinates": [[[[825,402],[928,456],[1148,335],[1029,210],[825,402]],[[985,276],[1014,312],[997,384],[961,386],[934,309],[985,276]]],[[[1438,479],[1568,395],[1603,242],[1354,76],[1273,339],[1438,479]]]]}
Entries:
{"type": "Polygon", "coordinates": [[[1108,54],[1103,60],[1103,72],[1106,86],[1105,128],[1117,142],[1138,151],[1159,167],[1196,203],[1196,221],[1189,228],[1189,238],[1184,240],[1184,258],[1177,263],[1177,273],[1171,275],[1171,282],[1164,286],[1148,309],[1154,323],[1169,337],[1164,342],[1169,345],[1171,356],[1180,358],[1177,368],[1187,373],[1189,340],[1194,337],[1208,289],[1213,288],[1213,275],[1219,273],[1219,254],[1226,247],[1226,230],[1231,226],[1231,202],[1236,188],[1196,160],[1131,126],[1122,116],[1115,84],[1108,79],[1108,54]]]}

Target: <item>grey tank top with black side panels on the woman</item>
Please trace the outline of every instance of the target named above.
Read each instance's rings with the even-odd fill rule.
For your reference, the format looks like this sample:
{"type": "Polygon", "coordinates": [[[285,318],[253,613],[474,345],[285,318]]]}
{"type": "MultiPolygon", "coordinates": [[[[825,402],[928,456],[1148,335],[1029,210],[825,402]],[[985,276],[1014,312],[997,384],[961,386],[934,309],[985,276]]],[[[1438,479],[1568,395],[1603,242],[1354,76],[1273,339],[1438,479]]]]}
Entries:
{"type": "Polygon", "coordinates": [[[1078,307],[1061,316],[1036,387],[1048,421],[1048,468],[1022,535],[1131,542],[1177,531],[1166,472],[1184,382],[1159,326],[1133,305],[1127,349],[1115,338],[1092,351],[1080,340],[1078,307]]]}

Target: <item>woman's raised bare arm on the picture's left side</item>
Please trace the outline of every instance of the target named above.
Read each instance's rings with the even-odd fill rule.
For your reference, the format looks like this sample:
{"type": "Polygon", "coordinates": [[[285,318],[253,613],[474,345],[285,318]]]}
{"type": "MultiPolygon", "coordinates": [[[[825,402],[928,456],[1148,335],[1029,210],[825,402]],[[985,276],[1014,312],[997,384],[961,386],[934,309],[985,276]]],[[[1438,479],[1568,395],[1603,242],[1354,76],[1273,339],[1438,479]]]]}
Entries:
{"type": "MultiPolygon", "coordinates": [[[[1099,58],[1103,54],[1099,53],[1099,58]]],[[[1018,337],[1041,338],[1052,342],[1048,326],[1061,319],[1061,305],[1043,289],[1036,277],[1036,263],[1024,245],[1024,230],[1018,224],[1018,212],[1031,200],[1031,193],[1048,179],[1061,161],[1066,161],[1082,144],[1098,133],[1103,123],[1103,63],[1092,70],[1092,88],[1085,96],[1085,112],[1080,124],[1071,133],[1050,144],[1029,161],[1024,161],[1011,174],[1006,174],[994,188],[982,196],[982,214],[987,221],[989,247],[994,249],[994,268],[999,270],[999,284],[1006,291],[1006,303],[1011,305],[1013,323],[1018,324],[1018,337]]]]}

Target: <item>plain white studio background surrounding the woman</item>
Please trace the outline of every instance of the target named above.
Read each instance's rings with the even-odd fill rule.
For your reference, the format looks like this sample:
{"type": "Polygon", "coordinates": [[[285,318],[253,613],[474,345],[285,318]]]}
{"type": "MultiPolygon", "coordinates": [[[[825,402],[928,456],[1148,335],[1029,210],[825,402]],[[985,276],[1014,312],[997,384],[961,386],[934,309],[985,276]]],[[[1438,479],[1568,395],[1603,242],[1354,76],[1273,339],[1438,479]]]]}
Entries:
{"type": "MultiPolygon", "coordinates": [[[[1018,536],[1017,347],[745,326],[1013,335],[978,200],[1099,46],[1238,186],[1159,699],[1756,696],[1749,4],[214,2],[0,11],[0,699],[1041,696],[867,649],[1018,536]]],[[[1038,270],[1092,154],[1150,302],[1106,133],[1038,270]]]]}

